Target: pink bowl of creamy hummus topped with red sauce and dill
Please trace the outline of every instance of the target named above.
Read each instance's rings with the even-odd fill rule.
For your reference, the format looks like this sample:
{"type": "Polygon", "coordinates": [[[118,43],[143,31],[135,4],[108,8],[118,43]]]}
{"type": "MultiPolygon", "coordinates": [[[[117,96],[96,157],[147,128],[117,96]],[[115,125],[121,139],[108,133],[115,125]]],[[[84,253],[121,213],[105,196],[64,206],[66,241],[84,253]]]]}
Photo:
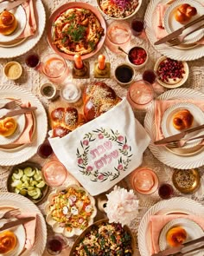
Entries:
{"type": "Polygon", "coordinates": [[[105,34],[103,16],[88,3],[65,3],[49,17],[48,43],[68,60],[73,60],[75,54],[82,59],[93,56],[103,46],[105,34]],[[62,26],[64,21],[66,25],[62,26]]]}

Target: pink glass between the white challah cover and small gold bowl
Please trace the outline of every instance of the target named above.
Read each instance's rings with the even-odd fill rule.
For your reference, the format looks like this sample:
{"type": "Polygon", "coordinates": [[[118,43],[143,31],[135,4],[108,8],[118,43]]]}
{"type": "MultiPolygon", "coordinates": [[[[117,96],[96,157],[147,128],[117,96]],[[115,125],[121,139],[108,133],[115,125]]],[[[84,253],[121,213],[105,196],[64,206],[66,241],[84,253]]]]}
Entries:
{"type": "Polygon", "coordinates": [[[158,184],[157,175],[148,167],[139,167],[131,173],[131,186],[140,194],[154,193],[158,184]]]}

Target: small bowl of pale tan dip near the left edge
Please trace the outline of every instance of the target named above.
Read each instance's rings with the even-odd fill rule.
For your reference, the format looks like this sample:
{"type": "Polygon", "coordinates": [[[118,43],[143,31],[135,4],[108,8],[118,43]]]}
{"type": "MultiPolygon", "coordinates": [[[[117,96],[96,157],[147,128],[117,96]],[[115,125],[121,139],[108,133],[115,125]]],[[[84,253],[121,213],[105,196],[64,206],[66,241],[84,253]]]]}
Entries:
{"type": "Polygon", "coordinates": [[[8,79],[16,80],[22,75],[22,65],[19,62],[8,62],[3,71],[8,79]]]}

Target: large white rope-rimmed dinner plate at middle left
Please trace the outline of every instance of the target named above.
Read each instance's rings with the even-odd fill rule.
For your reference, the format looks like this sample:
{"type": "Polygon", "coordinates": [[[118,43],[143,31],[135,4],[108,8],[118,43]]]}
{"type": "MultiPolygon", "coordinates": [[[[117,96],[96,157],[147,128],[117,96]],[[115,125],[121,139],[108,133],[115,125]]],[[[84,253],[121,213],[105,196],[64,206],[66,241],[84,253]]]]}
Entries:
{"type": "Polygon", "coordinates": [[[29,160],[37,152],[39,145],[45,140],[48,131],[48,118],[45,109],[35,95],[28,90],[16,87],[15,85],[1,85],[0,99],[19,98],[22,102],[30,102],[31,106],[37,107],[35,114],[35,134],[32,142],[24,147],[16,148],[10,152],[0,148],[0,165],[14,166],[23,161],[29,160]]]}

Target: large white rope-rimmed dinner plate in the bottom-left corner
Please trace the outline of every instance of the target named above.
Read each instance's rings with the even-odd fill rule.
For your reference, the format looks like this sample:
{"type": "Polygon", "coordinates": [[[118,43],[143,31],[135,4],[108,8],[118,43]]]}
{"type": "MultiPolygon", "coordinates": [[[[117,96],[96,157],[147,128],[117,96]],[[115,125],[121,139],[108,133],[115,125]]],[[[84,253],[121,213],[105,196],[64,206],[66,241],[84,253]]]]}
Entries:
{"type": "Polygon", "coordinates": [[[22,213],[37,213],[35,243],[29,250],[23,250],[21,256],[41,256],[47,242],[47,226],[39,208],[31,200],[20,194],[1,193],[0,200],[1,207],[19,208],[22,213]]]}

